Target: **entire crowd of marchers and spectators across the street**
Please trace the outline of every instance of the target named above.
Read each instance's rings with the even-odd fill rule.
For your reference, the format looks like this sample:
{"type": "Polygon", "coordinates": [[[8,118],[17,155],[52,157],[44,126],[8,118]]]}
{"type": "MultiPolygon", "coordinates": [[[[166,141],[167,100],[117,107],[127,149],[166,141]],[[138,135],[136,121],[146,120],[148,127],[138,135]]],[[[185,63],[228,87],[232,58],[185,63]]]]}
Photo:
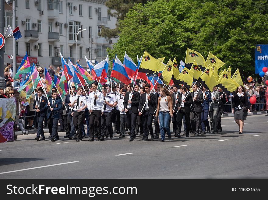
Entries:
{"type": "MultiPolygon", "coordinates": [[[[43,68],[38,68],[38,72],[42,78],[43,68]]],[[[48,72],[51,77],[54,73],[60,77],[62,69],[58,67],[55,72],[51,66],[48,72]]],[[[14,97],[13,88],[18,88],[21,80],[13,81],[10,63],[5,68],[5,74],[6,86],[5,89],[0,88],[0,98],[14,97]]],[[[88,141],[99,141],[108,137],[112,139],[114,133],[119,134],[119,138],[124,138],[126,132],[130,135],[129,142],[134,141],[138,132],[143,136],[142,141],[149,141],[150,132],[150,140],[159,139],[159,142],[164,142],[166,133],[171,140],[171,133],[173,137],[179,138],[181,132],[184,132],[186,137],[221,132],[221,115],[226,109],[234,113],[234,119],[239,126],[238,133],[243,133],[246,112],[251,109],[249,97],[252,95],[259,97],[259,103],[263,103],[257,106],[253,104],[252,110],[265,109],[264,85],[254,89],[252,84],[246,84],[245,87],[239,86],[236,92],[226,95],[217,86],[210,92],[205,87],[199,88],[198,84],[193,84],[192,92],[189,93],[185,86],[173,85],[168,89],[168,86],[157,84],[157,89],[152,90],[146,81],[139,83],[141,85],[104,84],[100,88],[95,81],[89,87],[72,86],[67,90],[63,101],[57,96],[56,88],[52,88],[48,98],[41,86],[37,86],[28,99],[25,90],[22,90],[19,102],[28,104],[20,104],[20,118],[16,124],[23,134],[26,134],[25,129],[35,127],[37,141],[45,140],[44,125],[49,129],[48,138],[51,141],[59,140],[59,122],[59,132],[66,132],[64,138],[76,139],[77,142],[83,138],[88,141]],[[228,103],[230,107],[224,107],[224,104],[228,103]],[[24,118],[25,121],[22,118],[24,112],[29,116],[24,118]],[[84,123],[87,125],[86,131],[84,123]]],[[[17,130],[17,127],[15,128],[17,130]]]]}

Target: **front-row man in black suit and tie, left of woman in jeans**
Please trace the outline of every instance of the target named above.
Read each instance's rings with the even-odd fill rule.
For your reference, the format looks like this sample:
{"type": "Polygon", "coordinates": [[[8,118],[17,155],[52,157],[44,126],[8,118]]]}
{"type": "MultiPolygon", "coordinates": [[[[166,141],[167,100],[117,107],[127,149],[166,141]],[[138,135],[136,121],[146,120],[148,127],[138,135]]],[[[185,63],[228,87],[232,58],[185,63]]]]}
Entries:
{"type": "Polygon", "coordinates": [[[143,116],[143,139],[142,141],[148,141],[148,128],[150,130],[151,140],[154,140],[153,135],[153,114],[156,106],[156,98],[153,93],[150,94],[150,84],[145,84],[145,93],[140,96],[139,100],[139,116],[143,116]],[[150,95],[149,95],[150,94],[150,95]],[[146,101],[148,99],[148,101],[146,101]],[[144,106],[145,105],[145,106],[144,106]],[[144,106],[143,111],[141,112],[144,106]]]}

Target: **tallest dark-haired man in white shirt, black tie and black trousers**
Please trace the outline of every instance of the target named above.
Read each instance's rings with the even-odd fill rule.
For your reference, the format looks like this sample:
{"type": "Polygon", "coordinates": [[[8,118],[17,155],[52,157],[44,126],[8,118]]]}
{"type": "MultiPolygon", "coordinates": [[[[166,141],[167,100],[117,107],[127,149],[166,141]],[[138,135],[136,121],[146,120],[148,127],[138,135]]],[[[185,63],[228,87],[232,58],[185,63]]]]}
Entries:
{"type": "Polygon", "coordinates": [[[89,93],[87,99],[87,109],[90,112],[89,124],[90,124],[90,138],[88,141],[94,141],[94,135],[96,140],[99,141],[101,138],[101,108],[104,104],[104,98],[102,92],[97,90],[98,82],[92,83],[93,91],[89,93]]]}

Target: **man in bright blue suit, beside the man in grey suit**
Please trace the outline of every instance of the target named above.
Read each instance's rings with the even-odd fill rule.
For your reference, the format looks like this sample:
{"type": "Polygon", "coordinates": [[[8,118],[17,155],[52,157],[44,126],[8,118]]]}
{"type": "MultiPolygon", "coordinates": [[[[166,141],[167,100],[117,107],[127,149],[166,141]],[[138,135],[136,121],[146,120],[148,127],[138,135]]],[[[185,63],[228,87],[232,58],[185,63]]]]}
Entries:
{"type": "Polygon", "coordinates": [[[206,88],[203,86],[202,88],[202,94],[204,98],[204,102],[202,104],[202,112],[201,112],[201,127],[202,127],[202,133],[201,135],[206,134],[206,128],[207,132],[210,132],[210,125],[209,121],[207,119],[208,112],[209,112],[209,103],[211,103],[211,94],[210,91],[206,91],[206,88]]]}

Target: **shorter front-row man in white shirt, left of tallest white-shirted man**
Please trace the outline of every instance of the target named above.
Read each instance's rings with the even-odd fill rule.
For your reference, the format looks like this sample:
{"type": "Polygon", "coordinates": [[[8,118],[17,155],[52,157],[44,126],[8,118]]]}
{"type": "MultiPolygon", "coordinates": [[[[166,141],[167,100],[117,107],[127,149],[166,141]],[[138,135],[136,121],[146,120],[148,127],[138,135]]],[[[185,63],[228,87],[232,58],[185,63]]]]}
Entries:
{"type": "Polygon", "coordinates": [[[86,96],[83,96],[82,87],[77,87],[77,94],[75,100],[73,101],[71,107],[73,107],[73,124],[76,128],[76,142],[79,142],[83,139],[82,128],[83,120],[85,118],[85,109],[86,105],[86,96]]]}

